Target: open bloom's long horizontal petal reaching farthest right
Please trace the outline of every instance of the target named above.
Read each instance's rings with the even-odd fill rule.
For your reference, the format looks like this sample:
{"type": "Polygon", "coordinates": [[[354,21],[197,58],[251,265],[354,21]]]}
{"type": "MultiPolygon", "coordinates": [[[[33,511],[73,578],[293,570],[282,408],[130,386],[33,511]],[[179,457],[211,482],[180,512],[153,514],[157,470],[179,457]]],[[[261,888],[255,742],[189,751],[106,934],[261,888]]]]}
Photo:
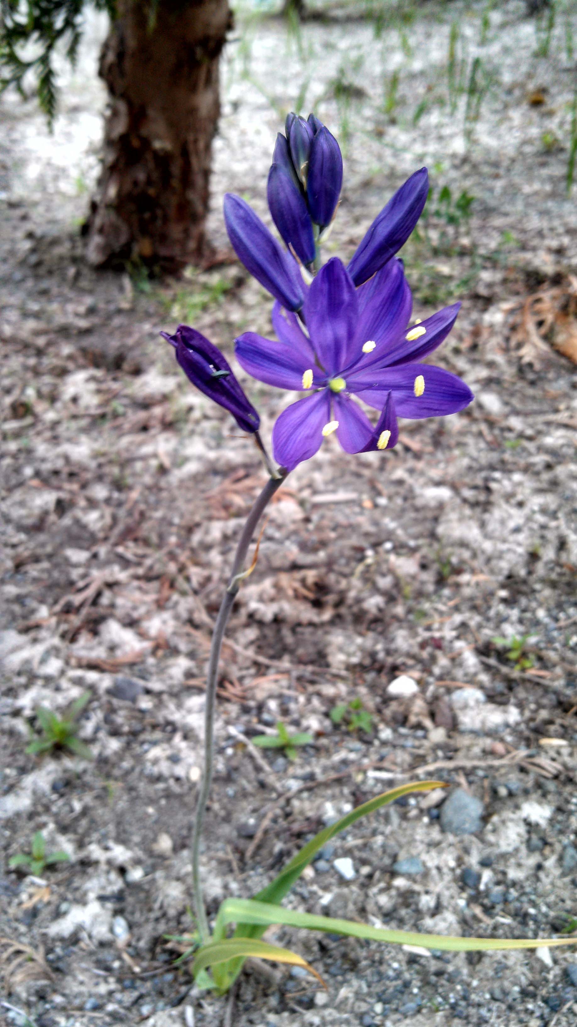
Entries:
{"type": "Polygon", "coordinates": [[[457,375],[428,364],[406,364],[397,368],[375,368],[367,375],[349,375],[348,388],[370,407],[380,409],[392,391],[399,417],[418,420],[422,417],[443,417],[468,407],[473,394],[457,375]],[[424,389],[415,394],[416,380],[422,377],[424,389]]]}

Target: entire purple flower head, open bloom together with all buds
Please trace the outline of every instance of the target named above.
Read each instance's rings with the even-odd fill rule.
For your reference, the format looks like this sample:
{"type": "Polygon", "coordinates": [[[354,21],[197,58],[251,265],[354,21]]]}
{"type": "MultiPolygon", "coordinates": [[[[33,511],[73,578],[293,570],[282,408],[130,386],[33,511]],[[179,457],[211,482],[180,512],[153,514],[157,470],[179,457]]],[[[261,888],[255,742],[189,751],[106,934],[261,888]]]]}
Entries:
{"type": "MultiPolygon", "coordinates": [[[[276,300],[277,341],[245,332],[236,339],[237,359],[258,381],[304,393],[279,415],[272,433],[274,458],[285,470],[316,453],[333,432],[347,453],[392,449],[397,416],[453,414],[472,400],[455,375],[421,363],[447,337],[460,304],[410,327],[411,290],[395,258],[425,205],[426,167],[389,199],[347,267],[338,258],[320,266],[342,182],[334,136],[314,114],[307,120],[290,114],[267,188],[284,246],[240,196],[227,193],[224,200],[237,257],[276,300]],[[376,424],[357,400],[379,412],[376,424]]],[[[220,350],[185,325],[174,336],[161,334],[190,381],[244,431],[257,432],[259,415],[220,350]]]]}

